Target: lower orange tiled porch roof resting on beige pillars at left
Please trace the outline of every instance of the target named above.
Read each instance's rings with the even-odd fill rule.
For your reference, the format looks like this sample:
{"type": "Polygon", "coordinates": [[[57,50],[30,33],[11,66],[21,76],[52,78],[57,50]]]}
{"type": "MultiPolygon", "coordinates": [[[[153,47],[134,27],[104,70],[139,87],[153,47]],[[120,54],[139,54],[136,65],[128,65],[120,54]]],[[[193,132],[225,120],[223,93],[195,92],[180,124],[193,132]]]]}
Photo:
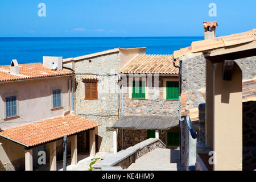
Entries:
{"type": "Polygon", "coordinates": [[[68,114],[64,117],[7,129],[1,131],[0,136],[31,147],[63,138],[65,135],[74,135],[81,131],[93,129],[97,126],[100,126],[100,124],[79,115],[68,114]]]}

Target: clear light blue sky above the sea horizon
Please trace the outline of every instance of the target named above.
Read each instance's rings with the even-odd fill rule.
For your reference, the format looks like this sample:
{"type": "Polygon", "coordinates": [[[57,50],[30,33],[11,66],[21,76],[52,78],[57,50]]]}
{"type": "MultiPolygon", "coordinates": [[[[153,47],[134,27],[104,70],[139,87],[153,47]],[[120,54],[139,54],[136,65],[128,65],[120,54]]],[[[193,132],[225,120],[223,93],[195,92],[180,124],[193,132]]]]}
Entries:
{"type": "Polygon", "coordinates": [[[256,28],[255,10],[255,0],[0,0],[0,37],[203,36],[205,20],[217,21],[221,36],[256,28]]]}

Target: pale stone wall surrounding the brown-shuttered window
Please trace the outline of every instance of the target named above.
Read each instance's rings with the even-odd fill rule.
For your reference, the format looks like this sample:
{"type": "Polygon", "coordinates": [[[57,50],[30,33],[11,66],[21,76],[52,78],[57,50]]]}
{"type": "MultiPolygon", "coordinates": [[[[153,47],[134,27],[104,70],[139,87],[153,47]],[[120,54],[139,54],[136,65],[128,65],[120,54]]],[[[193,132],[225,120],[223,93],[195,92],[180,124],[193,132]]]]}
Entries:
{"type": "Polygon", "coordinates": [[[99,151],[113,152],[113,131],[106,127],[113,126],[118,119],[118,76],[103,76],[106,73],[117,74],[119,70],[119,53],[109,53],[88,59],[73,61],[64,64],[65,67],[74,69],[75,89],[73,96],[76,114],[101,123],[98,127],[99,151]],[[90,61],[89,61],[90,60],[90,61]],[[86,75],[80,73],[96,73],[100,75],[86,75]],[[82,78],[97,77],[98,100],[85,100],[85,88],[82,78]]]}

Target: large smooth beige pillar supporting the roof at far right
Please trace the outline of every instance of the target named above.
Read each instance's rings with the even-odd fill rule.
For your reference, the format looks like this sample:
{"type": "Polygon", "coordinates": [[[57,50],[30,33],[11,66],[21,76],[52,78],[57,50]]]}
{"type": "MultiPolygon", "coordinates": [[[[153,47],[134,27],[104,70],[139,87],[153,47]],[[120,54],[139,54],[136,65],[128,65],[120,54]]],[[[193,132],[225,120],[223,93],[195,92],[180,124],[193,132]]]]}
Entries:
{"type": "Polygon", "coordinates": [[[231,81],[222,80],[222,63],[214,72],[214,170],[242,170],[242,71],[234,63],[231,81]]]}

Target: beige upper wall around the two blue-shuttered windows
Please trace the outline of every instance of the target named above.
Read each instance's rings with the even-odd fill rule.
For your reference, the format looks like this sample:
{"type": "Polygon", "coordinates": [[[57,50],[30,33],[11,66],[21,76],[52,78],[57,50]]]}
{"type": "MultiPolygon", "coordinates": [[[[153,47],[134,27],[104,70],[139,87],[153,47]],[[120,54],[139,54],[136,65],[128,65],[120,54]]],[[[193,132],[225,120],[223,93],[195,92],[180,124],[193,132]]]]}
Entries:
{"type": "Polygon", "coordinates": [[[0,84],[0,128],[58,117],[69,111],[68,78],[55,77],[0,84]],[[52,109],[52,89],[61,89],[62,107],[52,109]],[[17,96],[18,117],[5,118],[5,97],[17,96]]]}

